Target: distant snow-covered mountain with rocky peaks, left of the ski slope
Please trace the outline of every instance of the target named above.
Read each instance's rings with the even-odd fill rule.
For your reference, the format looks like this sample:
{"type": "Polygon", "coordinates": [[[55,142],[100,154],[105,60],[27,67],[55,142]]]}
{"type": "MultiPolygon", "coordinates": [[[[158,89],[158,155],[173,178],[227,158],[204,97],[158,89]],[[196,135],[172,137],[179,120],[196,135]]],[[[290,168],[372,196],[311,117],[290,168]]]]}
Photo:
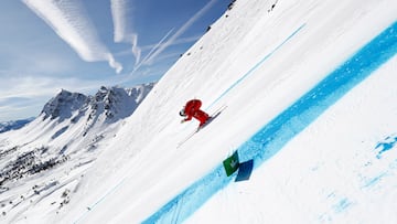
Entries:
{"type": "Polygon", "coordinates": [[[153,86],[103,86],[94,96],[62,89],[24,128],[0,135],[2,218],[14,222],[54,192],[61,194],[50,207],[66,204],[66,185],[78,185],[85,170],[153,86]]]}

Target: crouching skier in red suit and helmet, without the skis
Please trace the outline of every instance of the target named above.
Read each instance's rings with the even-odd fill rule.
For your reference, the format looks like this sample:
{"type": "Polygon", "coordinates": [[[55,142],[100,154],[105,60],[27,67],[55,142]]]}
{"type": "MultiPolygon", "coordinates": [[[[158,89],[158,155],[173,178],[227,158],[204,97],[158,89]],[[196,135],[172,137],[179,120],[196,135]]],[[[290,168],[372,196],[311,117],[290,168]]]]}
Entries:
{"type": "Polygon", "coordinates": [[[185,122],[194,117],[200,121],[198,128],[203,127],[203,125],[210,119],[210,116],[200,109],[202,106],[202,102],[200,99],[192,99],[186,103],[186,105],[180,111],[182,117],[185,117],[181,122],[185,122]]]}

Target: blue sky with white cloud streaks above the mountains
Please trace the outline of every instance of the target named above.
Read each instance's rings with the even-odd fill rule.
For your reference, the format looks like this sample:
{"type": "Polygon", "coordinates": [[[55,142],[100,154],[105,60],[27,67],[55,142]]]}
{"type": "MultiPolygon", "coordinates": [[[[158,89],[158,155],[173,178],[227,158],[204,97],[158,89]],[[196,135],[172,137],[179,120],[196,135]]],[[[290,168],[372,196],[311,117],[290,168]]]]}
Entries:
{"type": "Polygon", "coordinates": [[[158,81],[228,0],[2,0],[0,121],[37,116],[61,88],[158,81]]]}

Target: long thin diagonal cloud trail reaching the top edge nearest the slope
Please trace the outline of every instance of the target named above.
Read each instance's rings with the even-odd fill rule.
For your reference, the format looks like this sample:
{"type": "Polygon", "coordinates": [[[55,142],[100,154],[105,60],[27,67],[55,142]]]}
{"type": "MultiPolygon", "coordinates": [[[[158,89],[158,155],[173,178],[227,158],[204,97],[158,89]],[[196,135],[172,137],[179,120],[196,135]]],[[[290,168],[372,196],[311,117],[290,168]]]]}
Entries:
{"type": "Polygon", "coordinates": [[[155,49],[155,51],[150,54],[149,57],[142,61],[142,64],[151,64],[154,58],[161,54],[167,47],[172,45],[179,36],[181,36],[189,28],[192,26],[192,24],[200,19],[206,11],[213,7],[213,4],[216,2],[216,0],[211,0],[208,3],[206,3],[201,10],[198,10],[191,19],[189,19],[167,42],[162,43],[159,47],[155,49]]]}

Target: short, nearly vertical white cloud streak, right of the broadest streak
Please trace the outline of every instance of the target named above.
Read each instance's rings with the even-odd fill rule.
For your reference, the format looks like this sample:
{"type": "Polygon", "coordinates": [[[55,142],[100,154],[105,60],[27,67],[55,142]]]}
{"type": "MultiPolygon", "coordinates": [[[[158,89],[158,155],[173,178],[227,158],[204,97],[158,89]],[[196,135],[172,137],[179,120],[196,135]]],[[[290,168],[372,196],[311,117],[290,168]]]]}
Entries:
{"type": "Polygon", "coordinates": [[[132,45],[131,52],[136,64],[140,62],[141,49],[138,45],[138,34],[132,30],[130,1],[110,0],[111,17],[114,22],[114,40],[116,43],[125,42],[132,45]]]}

